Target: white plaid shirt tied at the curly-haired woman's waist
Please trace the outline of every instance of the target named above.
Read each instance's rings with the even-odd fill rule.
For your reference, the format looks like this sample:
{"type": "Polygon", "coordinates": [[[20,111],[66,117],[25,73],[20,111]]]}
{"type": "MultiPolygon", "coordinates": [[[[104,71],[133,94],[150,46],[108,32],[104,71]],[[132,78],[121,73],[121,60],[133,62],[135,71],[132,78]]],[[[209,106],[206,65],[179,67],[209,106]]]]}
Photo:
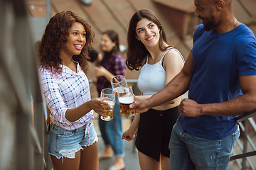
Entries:
{"type": "Polygon", "coordinates": [[[52,74],[48,69],[40,69],[43,97],[50,109],[50,120],[66,130],[81,128],[93,119],[93,110],[79,120],[70,122],[65,118],[65,113],[70,108],[77,108],[90,101],[89,81],[77,63],[77,73],[61,65],[62,74],[52,74]]]}

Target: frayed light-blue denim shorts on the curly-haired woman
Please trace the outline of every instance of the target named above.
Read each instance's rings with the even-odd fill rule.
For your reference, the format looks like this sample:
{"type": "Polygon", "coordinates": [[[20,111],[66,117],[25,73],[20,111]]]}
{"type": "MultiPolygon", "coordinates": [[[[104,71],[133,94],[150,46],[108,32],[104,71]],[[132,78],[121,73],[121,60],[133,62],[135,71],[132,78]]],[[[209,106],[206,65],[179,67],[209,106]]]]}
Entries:
{"type": "Polygon", "coordinates": [[[65,130],[58,125],[51,124],[48,132],[48,154],[57,159],[67,157],[75,158],[75,152],[97,142],[97,134],[93,123],[75,130],[65,130]]]}

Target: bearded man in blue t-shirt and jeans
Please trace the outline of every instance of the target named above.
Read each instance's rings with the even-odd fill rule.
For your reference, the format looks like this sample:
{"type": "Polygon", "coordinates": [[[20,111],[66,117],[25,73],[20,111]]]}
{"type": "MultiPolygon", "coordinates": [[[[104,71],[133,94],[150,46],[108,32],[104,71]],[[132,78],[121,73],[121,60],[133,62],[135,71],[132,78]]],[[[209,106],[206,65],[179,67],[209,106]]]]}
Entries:
{"type": "Polygon", "coordinates": [[[144,113],[188,91],[171,133],[170,169],[227,169],[240,132],[235,116],[256,108],[256,40],[237,21],[231,0],[194,0],[201,19],[181,72],[151,98],[130,107],[144,113]]]}

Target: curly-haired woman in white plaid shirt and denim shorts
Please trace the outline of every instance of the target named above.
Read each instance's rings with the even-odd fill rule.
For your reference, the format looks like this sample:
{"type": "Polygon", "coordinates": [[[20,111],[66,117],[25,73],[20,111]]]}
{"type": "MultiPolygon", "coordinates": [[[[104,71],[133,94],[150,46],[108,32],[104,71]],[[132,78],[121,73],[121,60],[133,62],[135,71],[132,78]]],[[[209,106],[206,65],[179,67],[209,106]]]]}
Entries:
{"type": "MultiPolygon", "coordinates": [[[[53,169],[99,169],[93,110],[110,106],[90,98],[88,48],[95,42],[90,25],[76,13],[50,18],[39,45],[43,97],[50,111],[48,153],[53,169]]],[[[107,110],[104,110],[106,108],[107,110]]]]}

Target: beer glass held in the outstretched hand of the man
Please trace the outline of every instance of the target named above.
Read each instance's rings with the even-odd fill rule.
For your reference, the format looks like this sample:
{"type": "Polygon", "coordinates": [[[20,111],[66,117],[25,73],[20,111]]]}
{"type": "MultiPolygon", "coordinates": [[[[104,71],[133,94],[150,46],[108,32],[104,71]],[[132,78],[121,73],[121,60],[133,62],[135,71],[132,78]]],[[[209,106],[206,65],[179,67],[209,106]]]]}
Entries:
{"type": "Polygon", "coordinates": [[[135,115],[134,108],[129,105],[134,102],[134,94],[132,86],[121,86],[117,89],[119,106],[122,109],[123,118],[130,118],[135,115]]]}

